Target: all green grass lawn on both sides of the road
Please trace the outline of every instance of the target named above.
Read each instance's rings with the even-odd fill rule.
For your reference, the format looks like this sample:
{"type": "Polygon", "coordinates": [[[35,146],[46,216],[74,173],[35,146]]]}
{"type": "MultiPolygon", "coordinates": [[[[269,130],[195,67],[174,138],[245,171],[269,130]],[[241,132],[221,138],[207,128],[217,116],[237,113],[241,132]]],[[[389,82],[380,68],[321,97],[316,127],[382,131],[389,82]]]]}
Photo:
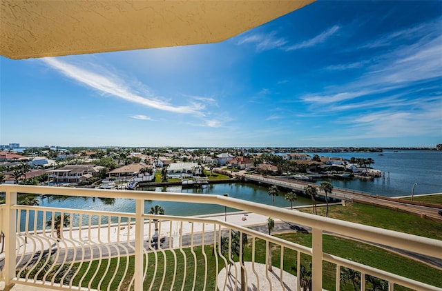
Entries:
{"type": "MultiPolygon", "coordinates": [[[[306,212],[311,212],[311,208],[306,208],[306,212]]],[[[318,213],[325,215],[325,207],[318,208],[318,213]]],[[[390,230],[397,230],[401,232],[408,232],[411,234],[417,234],[423,237],[431,237],[434,239],[442,239],[442,223],[436,223],[427,219],[421,219],[411,214],[405,214],[403,212],[394,212],[393,210],[387,210],[384,208],[376,208],[372,205],[350,203],[343,207],[341,205],[332,205],[329,210],[329,217],[336,219],[343,219],[346,221],[353,221],[356,223],[364,223],[367,225],[373,225],[381,228],[387,228],[390,230]]],[[[277,237],[281,237],[287,241],[293,241],[300,245],[311,247],[311,234],[298,234],[298,233],[285,233],[276,234],[277,237]]],[[[365,265],[370,265],[374,268],[379,268],[387,272],[399,274],[403,277],[415,279],[430,285],[438,287],[442,286],[442,271],[436,268],[432,268],[425,263],[420,263],[403,257],[400,254],[378,248],[373,245],[367,245],[359,241],[352,241],[349,239],[343,239],[340,237],[333,237],[325,234],[323,237],[324,252],[334,254],[338,257],[345,259],[351,259],[352,261],[358,261],[365,265]]],[[[205,268],[207,268],[207,281],[206,290],[215,290],[215,274],[224,268],[224,261],[218,256],[213,254],[213,245],[205,245],[204,247],[195,247],[193,252],[190,248],[183,249],[184,254],[180,250],[175,250],[177,260],[173,259],[173,253],[168,250],[164,251],[166,254],[166,261],[164,261],[164,254],[162,252],[149,253],[148,254],[148,274],[144,285],[144,290],[148,290],[152,284],[153,290],[170,290],[172,279],[174,275],[174,266],[177,264],[177,272],[175,277],[175,283],[173,290],[181,290],[184,284],[184,290],[191,290],[193,288],[193,278],[195,276],[195,290],[204,289],[204,277],[205,268]],[[202,253],[205,250],[206,258],[202,253]],[[156,259],[155,259],[156,256],[156,259]],[[186,257],[186,265],[184,265],[184,257],[186,257]],[[218,259],[218,268],[216,266],[216,259],[218,259]],[[206,263],[206,261],[207,263],[206,263]],[[155,261],[157,263],[155,263],[155,261]],[[155,271],[156,265],[156,271],[155,271]],[[186,276],[184,278],[184,271],[186,276]],[[152,279],[155,274],[155,281],[152,283],[152,279]],[[195,273],[196,272],[196,273],[195,273]],[[164,274],[164,276],[163,276],[164,274]],[[162,279],[164,279],[164,285],[162,285],[162,279]],[[184,281],[185,280],[185,281],[184,281]]],[[[249,243],[244,249],[245,261],[251,261],[251,238],[249,237],[249,243]]],[[[256,239],[255,248],[255,261],[258,263],[265,263],[266,246],[265,241],[256,239]]],[[[280,247],[273,245],[272,248],[272,265],[276,268],[280,268],[280,247]]],[[[284,250],[284,262],[282,268],[291,273],[296,274],[296,258],[297,253],[294,250],[284,250]]],[[[111,261],[102,261],[98,268],[97,261],[93,261],[89,266],[89,263],[83,263],[83,265],[77,264],[79,272],[74,279],[74,284],[77,285],[81,281],[81,277],[86,274],[85,278],[81,281],[82,287],[87,287],[90,283],[91,288],[98,288],[106,290],[110,283],[113,274],[115,273],[114,283],[111,284],[111,290],[115,290],[120,281],[123,283],[123,287],[128,287],[133,277],[133,257],[129,259],[128,272],[124,274],[124,266],[126,265],[126,259],[117,258],[111,259],[111,261]],[[105,270],[108,267],[106,274],[105,270]],[[119,268],[117,268],[119,266],[119,268]],[[99,274],[97,279],[90,282],[90,278],[95,271],[99,274]],[[99,281],[104,275],[104,281],[102,285],[98,286],[99,281]]],[[[238,258],[235,258],[238,260],[238,258]]],[[[306,254],[301,254],[301,264],[307,269],[311,257],[306,254]]],[[[145,262],[146,263],[146,262],[145,262]]],[[[336,285],[336,265],[328,262],[323,263],[323,288],[327,290],[334,290],[336,285]]],[[[371,288],[367,283],[367,290],[371,288]]],[[[124,290],[126,288],[123,288],[124,290]]],[[[341,282],[341,290],[354,290],[354,286],[351,283],[341,282]]],[[[401,286],[395,286],[394,290],[407,290],[401,286]]]]}

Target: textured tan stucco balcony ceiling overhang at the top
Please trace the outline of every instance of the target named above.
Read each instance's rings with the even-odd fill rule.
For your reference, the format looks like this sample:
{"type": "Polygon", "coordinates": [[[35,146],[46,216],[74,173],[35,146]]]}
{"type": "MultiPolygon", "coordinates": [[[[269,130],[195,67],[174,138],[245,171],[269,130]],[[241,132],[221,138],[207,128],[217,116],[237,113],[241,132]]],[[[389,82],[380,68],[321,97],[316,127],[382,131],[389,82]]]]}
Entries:
{"type": "Polygon", "coordinates": [[[27,59],[214,43],[313,1],[0,0],[0,54],[27,59]]]}

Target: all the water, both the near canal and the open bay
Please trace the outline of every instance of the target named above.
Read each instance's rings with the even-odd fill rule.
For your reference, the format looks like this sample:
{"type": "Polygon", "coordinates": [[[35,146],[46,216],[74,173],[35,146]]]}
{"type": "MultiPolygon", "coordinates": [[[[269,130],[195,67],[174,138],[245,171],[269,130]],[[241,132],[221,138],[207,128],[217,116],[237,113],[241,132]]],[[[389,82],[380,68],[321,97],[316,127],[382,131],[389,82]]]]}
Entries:
{"type": "MultiPolygon", "coordinates": [[[[344,159],[372,158],[373,168],[381,170],[386,174],[390,172],[390,179],[385,177],[376,178],[373,181],[354,180],[331,180],[334,187],[347,188],[357,191],[379,194],[387,197],[405,196],[411,194],[412,185],[417,183],[414,194],[440,193],[442,192],[442,152],[429,150],[385,150],[383,156],[377,152],[348,152],[348,153],[316,153],[325,157],[343,157],[344,159]]],[[[318,181],[320,183],[320,181],[318,181]]],[[[183,192],[198,194],[224,194],[229,197],[254,201],[258,203],[272,204],[272,199],[268,194],[268,186],[260,186],[245,183],[222,183],[211,184],[207,188],[182,189],[181,186],[142,188],[142,190],[153,190],[158,192],[183,192]]],[[[74,208],[82,210],[101,210],[108,212],[135,212],[135,201],[130,199],[93,199],[88,197],[39,197],[41,206],[55,208],[74,208]]],[[[294,205],[308,205],[311,201],[305,197],[299,197],[294,201],[294,205]]],[[[198,215],[224,213],[224,206],[198,203],[176,203],[171,201],[146,201],[146,212],[156,204],[162,205],[166,214],[169,215],[198,215]]],[[[285,192],[280,192],[280,196],[275,197],[275,205],[279,207],[290,206],[285,200],[285,192]]],[[[227,208],[228,212],[236,211],[227,208]]],[[[23,213],[24,214],[24,213],[23,213]]],[[[22,216],[23,216],[22,214],[22,216]]],[[[41,216],[40,216],[41,217],[41,216]]],[[[74,224],[78,223],[79,217],[75,218],[74,224]]],[[[23,222],[23,221],[22,221],[23,222]]],[[[30,221],[30,225],[32,225],[30,221]]],[[[37,224],[41,225],[43,222],[37,224]]],[[[97,219],[93,219],[97,223],[97,219]]],[[[102,221],[106,223],[106,221],[102,221]]]]}

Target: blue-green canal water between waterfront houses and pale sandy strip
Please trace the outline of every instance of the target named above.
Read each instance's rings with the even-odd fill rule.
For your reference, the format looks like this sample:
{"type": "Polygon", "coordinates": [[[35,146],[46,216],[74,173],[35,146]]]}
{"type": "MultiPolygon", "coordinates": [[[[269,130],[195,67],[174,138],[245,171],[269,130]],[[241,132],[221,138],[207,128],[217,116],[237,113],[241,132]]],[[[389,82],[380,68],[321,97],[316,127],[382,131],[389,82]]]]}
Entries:
{"type": "MultiPolygon", "coordinates": [[[[146,187],[140,188],[140,190],[149,190],[157,192],[182,192],[182,193],[196,193],[196,194],[220,194],[228,193],[229,197],[244,199],[247,201],[254,201],[259,203],[265,203],[267,205],[272,205],[272,198],[268,194],[268,186],[260,186],[249,183],[222,183],[222,184],[210,184],[206,188],[193,189],[184,188],[182,189],[180,185],[172,185],[168,187],[146,187]]],[[[289,207],[289,201],[285,200],[285,194],[287,192],[280,191],[278,197],[275,197],[275,205],[279,207],[289,207]]],[[[64,197],[64,196],[48,196],[45,198],[38,197],[39,205],[54,208],[74,208],[81,210],[99,210],[104,212],[131,212],[135,213],[135,201],[131,199],[99,199],[92,197],[64,197]]],[[[309,205],[311,203],[310,199],[305,197],[299,197],[294,201],[294,206],[296,205],[309,205]]],[[[164,212],[167,215],[177,215],[177,216],[189,216],[189,215],[199,215],[199,214],[213,214],[213,213],[224,213],[225,208],[222,205],[215,204],[200,204],[200,203],[179,203],[172,201],[145,201],[144,208],[145,211],[151,209],[154,205],[159,204],[164,208],[164,212]]],[[[227,212],[238,211],[237,209],[227,208],[227,212]]],[[[21,211],[21,230],[25,229],[25,211],[21,211]]],[[[29,229],[32,229],[34,225],[34,212],[30,211],[29,229]]],[[[55,213],[59,215],[59,213],[55,213]]],[[[50,220],[52,213],[47,214],[46,221],[50,220]]],[[[79,217],[75,214],[73,217],[73,226],[78,226],[80,224],[88,225],[89,217],[83,216],[79,217]]],[[[41,229],[46,221],[43,220],[43,213],[37,213],[37,229],[41,229]]],[[[91,216],[90,221],[93,225],[98,223],[97,216],[91,216]]],[[[125,222],[123,219],[122,222],[125,222]]],[[[102,217],[102,223],[108,223],[107,217],[102,217]]],[[[111,222],[117,222],[116,217],[111,218],[111,222]]]]}

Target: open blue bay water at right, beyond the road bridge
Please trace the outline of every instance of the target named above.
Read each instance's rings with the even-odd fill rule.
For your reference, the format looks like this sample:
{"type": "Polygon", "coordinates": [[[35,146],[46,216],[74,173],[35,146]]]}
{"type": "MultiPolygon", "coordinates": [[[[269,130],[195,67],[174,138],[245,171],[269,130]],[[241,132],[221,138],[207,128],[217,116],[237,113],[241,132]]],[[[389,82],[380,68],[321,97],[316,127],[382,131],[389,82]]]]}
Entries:
{"type": "Polygon", "coordinates": [[[442,152],[434,150],[384,150],[378,152],[316,153],[324,157],[343,157],[344,159],[372,158],[373,168],[385,172],[385,180],[363,179],[329,180],[334,187],[369,192],[386,197],[407,196],[442,192],[442,152]],[[387,173],[390,172],[390,179],[387,173]]]}

